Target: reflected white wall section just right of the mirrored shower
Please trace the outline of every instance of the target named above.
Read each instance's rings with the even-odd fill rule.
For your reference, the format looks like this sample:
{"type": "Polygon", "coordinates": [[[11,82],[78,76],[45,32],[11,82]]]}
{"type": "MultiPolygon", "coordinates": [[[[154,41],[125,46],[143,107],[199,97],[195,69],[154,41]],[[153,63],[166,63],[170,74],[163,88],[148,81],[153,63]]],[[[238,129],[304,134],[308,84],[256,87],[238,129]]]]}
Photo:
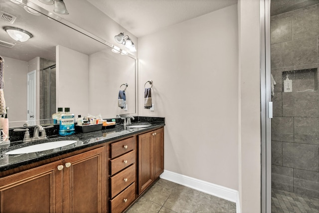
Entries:
{"type": "Polygon", "coordinates": [[[69,107],[76,118],[87,115],[89,56],[58,45],[56,64],[56,107],[69,107]]]}

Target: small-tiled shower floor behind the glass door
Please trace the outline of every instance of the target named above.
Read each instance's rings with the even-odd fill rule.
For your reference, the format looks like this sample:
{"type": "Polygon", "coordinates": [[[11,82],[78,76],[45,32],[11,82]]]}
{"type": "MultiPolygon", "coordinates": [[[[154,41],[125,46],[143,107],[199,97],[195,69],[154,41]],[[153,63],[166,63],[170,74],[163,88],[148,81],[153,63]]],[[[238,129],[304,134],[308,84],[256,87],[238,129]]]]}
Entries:
{"type": "Polygon", "coordinates": [[[271,212],[319,213],[319,198],[272,189],[271,212]]]}

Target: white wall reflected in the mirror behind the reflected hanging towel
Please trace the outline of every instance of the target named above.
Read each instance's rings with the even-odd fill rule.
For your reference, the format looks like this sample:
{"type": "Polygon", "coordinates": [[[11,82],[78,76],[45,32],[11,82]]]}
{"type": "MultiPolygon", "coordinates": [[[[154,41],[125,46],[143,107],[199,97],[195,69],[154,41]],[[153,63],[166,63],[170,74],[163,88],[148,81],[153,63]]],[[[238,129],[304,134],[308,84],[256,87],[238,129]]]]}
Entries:
{"type": "MultiPolygon", "coordinates": [[[[89,56],[89,112],[114,118],[117,114],[135,113],[135,59],[115,54],[111,49],[89,56]],[[127,83],[125,90],[127,111],[118,107],[120,86],[127,83]]],[[[121,87],[124,90],[125,86],[121,87]]]]}

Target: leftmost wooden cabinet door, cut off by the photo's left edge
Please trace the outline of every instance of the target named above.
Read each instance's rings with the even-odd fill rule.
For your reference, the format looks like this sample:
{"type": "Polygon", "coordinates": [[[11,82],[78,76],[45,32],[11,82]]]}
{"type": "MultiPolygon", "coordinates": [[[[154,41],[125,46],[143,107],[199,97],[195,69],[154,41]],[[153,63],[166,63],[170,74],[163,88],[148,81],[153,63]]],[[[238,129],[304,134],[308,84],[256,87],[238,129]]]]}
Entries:
{"type": "Polygon", "coordinates": [[[62,212],[61,161],[0,179],[1,213],[62,212]]]}

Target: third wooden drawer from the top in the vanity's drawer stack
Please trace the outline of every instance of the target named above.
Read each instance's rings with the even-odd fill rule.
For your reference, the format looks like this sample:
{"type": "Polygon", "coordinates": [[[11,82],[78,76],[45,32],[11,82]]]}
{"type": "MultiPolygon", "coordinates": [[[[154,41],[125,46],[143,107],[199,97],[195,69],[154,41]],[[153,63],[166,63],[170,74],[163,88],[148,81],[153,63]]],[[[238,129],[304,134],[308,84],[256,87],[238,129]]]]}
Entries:
{"type": "Polygon", "coordinates": [[[135,164],[111,177],[111,198],[135,182],[135,164]]]}

